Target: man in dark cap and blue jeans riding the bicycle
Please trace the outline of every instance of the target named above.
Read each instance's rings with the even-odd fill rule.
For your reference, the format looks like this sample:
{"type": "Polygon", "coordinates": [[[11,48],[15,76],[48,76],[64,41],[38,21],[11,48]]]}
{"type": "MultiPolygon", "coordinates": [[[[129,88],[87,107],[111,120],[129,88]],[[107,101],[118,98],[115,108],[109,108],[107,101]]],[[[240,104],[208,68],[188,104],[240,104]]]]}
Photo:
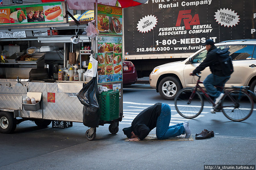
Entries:
{"type": "Polygon", "coordinates": [[[216,54],[218,49],[215,47],[213,40],[206,40],[205,47],[207,50],[207,55],[204,61],[194,69],[189,75],[192,76],[200,71],[204,70],[206,67],[210,67],[212,74],[209,74],[204,80],[204,87],[206,88],[210,96],[215,97],[215,104],[218,104],[222,96],[224,95],[223,91],[218,91],[214,86],[224,87],[225,83],[229,80],[229,76],[224,76],[222,73],[222,68],[219,65],[218,57],[216,54]]]}

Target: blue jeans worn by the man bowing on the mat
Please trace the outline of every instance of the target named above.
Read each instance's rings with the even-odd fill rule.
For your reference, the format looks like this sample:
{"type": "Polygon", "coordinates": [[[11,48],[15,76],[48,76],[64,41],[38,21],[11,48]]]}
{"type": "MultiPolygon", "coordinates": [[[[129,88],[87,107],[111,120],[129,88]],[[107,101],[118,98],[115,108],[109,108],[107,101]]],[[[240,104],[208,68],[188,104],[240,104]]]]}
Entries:
{"type": "Polygon", "coordinates": [[[171,108],[166,103],[162,103],[161,113],[157,118],[156,137],[158,139],[167,139],[185,134],[183,123],[169,126],[171,120],[171,108]]]}

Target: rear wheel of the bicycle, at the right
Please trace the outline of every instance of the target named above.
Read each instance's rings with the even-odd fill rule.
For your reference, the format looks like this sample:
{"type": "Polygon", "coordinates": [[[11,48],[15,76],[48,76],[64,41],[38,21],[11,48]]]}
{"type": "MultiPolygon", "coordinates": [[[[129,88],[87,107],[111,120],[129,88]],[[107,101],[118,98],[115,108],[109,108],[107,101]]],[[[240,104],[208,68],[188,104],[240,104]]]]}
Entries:
{"type": "Polygon", "coordinates": [[[239,90],[232,90],[222,98],[221,106],[223,114],[235,122],[244,121],[253,111],[253,101],[251,97],[239,90]],[[243,98],[243,102],[242,99],[243,98]],[[233,102],[233,101],[234,102],[233,102]],[[249,101],[249,102],[248,102],[249,101]]]}

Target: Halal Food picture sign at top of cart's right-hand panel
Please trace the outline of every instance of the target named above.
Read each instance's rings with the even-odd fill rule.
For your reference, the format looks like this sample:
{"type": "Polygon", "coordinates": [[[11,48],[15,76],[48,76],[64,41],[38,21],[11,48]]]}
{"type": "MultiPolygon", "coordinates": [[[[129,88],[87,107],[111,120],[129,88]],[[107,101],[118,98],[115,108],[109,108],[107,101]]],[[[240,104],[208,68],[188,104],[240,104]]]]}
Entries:
{"type": "Polygon", "coordinates": [[[98,4],[98,30],[100,34],[122,35],[122,8],[98,4]]]}

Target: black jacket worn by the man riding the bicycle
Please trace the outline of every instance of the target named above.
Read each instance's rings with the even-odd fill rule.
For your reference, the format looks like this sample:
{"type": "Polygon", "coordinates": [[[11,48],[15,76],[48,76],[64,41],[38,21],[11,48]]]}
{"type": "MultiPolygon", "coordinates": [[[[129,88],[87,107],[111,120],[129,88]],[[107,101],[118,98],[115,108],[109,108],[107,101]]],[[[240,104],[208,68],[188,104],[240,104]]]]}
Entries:
{"type": "Polygon", "coordinates": [[[222,69],[219,65],[219,55],[216,54],[216,51],[218,51],[218,49],[215,46],[212,46],[207,52],[204,61],[198,67],[196,67],[196,69],[194,69],[193,74],[199,73],[206,67],[210,67],[212,74],[223,77],[224,74],[222,74],[222,69]]]}

